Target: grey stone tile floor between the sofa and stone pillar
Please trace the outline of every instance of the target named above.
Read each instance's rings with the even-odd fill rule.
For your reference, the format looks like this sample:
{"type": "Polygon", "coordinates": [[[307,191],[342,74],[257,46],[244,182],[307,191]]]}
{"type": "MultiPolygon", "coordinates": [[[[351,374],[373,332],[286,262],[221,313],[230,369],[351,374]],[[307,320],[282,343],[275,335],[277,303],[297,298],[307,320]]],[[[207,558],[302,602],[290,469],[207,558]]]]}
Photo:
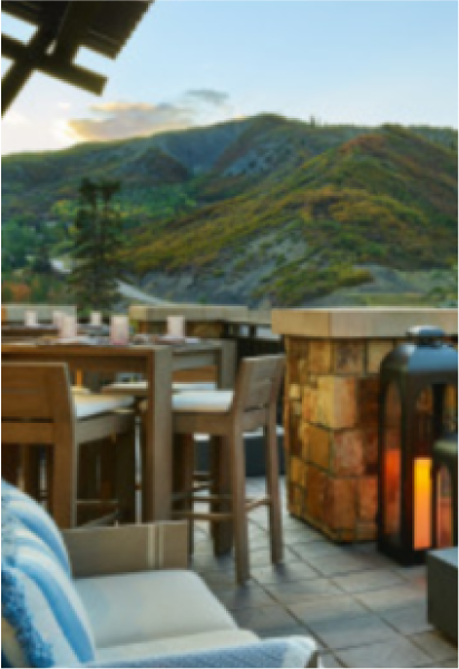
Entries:
{"type": "MultiPolygon", "coordinates": [[[[251,495],[264,481],[251,480],[251,495]]],[[[252,580],[236,587],[196,527],[193,567],[240,626],[261,637],[312,636],[325,669],[459,669],[459,648],[427,622],[426,569],[402,569],[374,544],[335,545],[284,510],[285,561],[273,568],[267,514],[251,515],[252,580]]]]}

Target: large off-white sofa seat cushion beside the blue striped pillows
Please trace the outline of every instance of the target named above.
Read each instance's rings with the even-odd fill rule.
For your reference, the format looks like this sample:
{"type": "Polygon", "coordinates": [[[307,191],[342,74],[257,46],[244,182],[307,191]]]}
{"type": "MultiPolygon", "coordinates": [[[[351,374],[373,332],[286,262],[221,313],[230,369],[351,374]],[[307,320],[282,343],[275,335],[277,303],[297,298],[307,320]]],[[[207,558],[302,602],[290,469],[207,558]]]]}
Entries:
{"type": "Polygon", "coordinates": [[[97,649],[237,629],[204,582],[191,572],[84,579],[76,588],[97,649]]]}

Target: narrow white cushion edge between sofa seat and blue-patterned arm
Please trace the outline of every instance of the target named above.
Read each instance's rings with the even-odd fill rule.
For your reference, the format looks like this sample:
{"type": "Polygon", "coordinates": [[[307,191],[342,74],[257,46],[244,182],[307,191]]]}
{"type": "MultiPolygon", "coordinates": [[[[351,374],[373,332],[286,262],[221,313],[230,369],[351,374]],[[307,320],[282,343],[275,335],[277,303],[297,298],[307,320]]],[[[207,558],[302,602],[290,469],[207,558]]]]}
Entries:
{"type": "Polygon", "coordinates": [[[237,648],[241,646],[254,646],[260,639],[253,632],[242,630],[225,630],[217,632],[205,632],[189,637],[174,637],[147,643],[131,643],[129,646],[116,646],[97,651],[97,659],[107,661],[131,661],[153,657],[167,657],[191,652],[202,652],[219,648],[237,648]]]}

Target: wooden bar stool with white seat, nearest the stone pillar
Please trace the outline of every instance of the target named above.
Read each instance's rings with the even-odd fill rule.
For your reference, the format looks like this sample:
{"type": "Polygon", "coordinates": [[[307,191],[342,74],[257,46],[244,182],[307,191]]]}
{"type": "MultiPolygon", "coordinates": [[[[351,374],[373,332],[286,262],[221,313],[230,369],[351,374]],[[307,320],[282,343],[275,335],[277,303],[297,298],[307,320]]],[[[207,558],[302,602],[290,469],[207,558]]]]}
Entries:
{"type": "Polygon", "coordinates": [[[237,581],[250,579],[248,512],[270,510],[271,557],[283,560],[282,511],[276,436],[277,399],[285,368],[285,356],[245,358],[241,363],[234,392],[191,392],[173,397],[175,436],[175,515],[212,523],[232,523],[237,581]],[[263,429],[266,451],[267,494],[246,499],[244,433],[263,429]],[[216,437],[217,465],[213,472],[214,494],[202,495],[194,484],[194,435],[216,437]],[[215,480],[215,476],[217,480],[215,480]],[[208,513],[194,504],[208,503],[208,513]]]}

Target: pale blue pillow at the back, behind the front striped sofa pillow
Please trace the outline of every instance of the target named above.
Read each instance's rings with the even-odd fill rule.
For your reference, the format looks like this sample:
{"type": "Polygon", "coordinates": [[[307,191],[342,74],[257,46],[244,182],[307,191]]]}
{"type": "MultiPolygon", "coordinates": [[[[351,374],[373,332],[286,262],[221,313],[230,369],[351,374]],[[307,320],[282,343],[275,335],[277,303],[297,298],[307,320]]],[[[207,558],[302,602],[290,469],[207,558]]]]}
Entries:
{"type": "MultiPolygon", "coordinates": [[[[9,514],[10,520],[14,518],[20,525],[30,533],[36,534],[52,551],[59,564],[68,575],[71,574],[70,559],[62,541],[61,534],[53,520],[41,509],[39,504],[18,489],[1,481],[1,506],[3,515],[9,514]]],[[[4,516],[4,522],[7,516],[4,516]]],[[[2,522],[2,525],[4,525],[2,522]]],[[[11,530],[11,528],[10,528],[11,530]]],[[[30,539],[30,538],[29,538],[30,539]]],[[[3,541],[3,537],[2,537],[3,541]]]]}

